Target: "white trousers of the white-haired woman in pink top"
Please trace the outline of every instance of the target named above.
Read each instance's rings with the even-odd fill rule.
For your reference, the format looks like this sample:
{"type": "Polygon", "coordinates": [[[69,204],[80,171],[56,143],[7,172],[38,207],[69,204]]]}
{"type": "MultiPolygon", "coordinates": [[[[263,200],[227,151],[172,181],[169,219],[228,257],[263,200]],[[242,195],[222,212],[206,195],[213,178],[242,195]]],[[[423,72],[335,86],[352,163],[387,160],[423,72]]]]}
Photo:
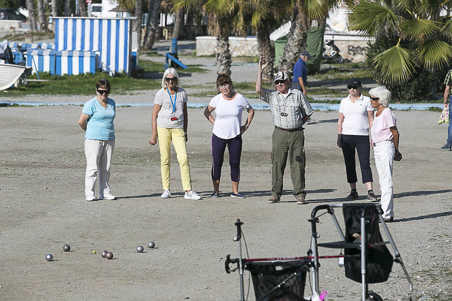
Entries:
{"type": "Polygon", "coordinates": [[[378,178],[381,190],[381,209],[383,218],[394,216],[394,190],[392,182],[392,164],[394,160],[395,147],[392,141],[378,142],[374,146],[375,165],[377,166],[378,178]]]}

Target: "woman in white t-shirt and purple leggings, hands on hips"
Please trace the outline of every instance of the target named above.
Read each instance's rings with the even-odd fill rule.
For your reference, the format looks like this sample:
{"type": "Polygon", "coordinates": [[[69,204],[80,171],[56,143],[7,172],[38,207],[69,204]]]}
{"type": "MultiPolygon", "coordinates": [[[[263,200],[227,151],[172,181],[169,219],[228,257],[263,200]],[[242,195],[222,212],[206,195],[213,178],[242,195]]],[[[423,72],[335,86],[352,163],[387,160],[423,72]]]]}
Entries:
{"type": "Polygon", "coordinates": [[[223,165],[224,150],[228,146],[232,181],[231,197],[243,199],[245,196],[239,193],[242,134],[250,126],[254,117],[254,110],[242,94],[234,91],[232,80],[228,75],[218,75],[216,87],[217,91],[221,93],[213,97],[204,110],[204,116],[213,124],[212,198],[219,197],[221,166],[223,165]],[[247,107],[247,105],[249,106],[247,107]],[[242,125],[243,109],[248,111],[248,118],[244,125],[242,125]],[[216,119],[211,114],[213,110],[215,110],[216,119]]]}

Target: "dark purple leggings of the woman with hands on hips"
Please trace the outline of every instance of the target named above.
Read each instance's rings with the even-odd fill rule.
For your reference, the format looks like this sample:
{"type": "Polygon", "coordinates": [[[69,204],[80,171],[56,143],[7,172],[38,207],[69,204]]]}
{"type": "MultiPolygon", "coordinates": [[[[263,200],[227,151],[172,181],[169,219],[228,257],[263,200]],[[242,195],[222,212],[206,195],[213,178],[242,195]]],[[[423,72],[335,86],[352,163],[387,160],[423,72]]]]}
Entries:
{"type": "Polygon", "coordinates": [[[231,166],[231,181],[240,180],[240,156],[242,155],[242,135],[231,139],[222,139],[212,134],[212,180],[221,178],[221,166],[223,165],[224,150],[228,145],[229,165],[231,166]]]}

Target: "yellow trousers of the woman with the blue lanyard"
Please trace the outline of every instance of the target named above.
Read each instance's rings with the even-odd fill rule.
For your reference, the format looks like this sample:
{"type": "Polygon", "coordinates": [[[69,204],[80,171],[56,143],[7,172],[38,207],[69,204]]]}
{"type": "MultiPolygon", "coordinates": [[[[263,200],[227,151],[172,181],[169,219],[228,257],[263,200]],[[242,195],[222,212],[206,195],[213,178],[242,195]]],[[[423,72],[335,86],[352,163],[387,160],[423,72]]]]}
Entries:
{"type": "Polygon", "coordinates": [[[184,130],[182,128],[164,128],[157,126],[157,135],[159,137],[160,170],[162,173],[163,189],[169,189],[171,157],[170,141],[173,141],[177,161],[179,162],[182,188],[185,191],[191,190],[190,166],[188,165],[184,130]]]}

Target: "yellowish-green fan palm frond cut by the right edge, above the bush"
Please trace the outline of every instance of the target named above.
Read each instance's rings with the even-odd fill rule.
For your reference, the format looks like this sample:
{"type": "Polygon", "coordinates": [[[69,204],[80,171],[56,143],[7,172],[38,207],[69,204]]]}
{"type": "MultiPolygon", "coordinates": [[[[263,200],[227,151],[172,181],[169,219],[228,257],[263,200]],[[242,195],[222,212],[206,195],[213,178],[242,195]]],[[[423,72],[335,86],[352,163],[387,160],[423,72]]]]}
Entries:
{"type": "Polygon", "coordinates": [[[427,69],[432,67],[441,69],[452,60],[452,46],[436,39],[422,43],[415,53],[427,69]]]}

